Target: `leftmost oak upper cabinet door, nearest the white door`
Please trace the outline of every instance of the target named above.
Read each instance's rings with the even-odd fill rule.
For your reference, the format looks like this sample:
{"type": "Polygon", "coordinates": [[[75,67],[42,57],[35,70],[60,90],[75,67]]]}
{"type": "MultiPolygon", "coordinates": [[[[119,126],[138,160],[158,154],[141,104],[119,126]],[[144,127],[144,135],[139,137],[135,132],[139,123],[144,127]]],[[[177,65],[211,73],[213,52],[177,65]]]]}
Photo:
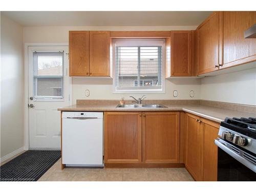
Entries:
{"type": "Polygon", "coordinates": [[[89,31],[69,32],[69,76],[89,76],[89,31]]]}

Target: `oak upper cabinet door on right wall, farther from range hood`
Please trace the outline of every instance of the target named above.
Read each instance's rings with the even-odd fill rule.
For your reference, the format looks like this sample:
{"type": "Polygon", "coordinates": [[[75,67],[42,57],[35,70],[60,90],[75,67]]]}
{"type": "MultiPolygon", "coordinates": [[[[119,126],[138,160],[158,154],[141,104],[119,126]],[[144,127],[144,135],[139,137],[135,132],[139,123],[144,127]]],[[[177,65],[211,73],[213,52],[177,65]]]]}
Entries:
{"type": "Polygon", "coordinates": [[[222,64],[222,12],[212,13],[197,30],[198,74],[216,71],[222,64]]]}

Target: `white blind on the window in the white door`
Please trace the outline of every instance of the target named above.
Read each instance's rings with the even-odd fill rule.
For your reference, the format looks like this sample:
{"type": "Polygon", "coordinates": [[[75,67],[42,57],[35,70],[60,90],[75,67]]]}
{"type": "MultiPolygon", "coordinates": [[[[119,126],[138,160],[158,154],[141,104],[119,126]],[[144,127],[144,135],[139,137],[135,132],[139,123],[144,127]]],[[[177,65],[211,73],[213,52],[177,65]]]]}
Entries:
{"type": "Polygon", "coordinates": [[[63,52],[33,52],[33,96],[63,98],[63,52]]]}

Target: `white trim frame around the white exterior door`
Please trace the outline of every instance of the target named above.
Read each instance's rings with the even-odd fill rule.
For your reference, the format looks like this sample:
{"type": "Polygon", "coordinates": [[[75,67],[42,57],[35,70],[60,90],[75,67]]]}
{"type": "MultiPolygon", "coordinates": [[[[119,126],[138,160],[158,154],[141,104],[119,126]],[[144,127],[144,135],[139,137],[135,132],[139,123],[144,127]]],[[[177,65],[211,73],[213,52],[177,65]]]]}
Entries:
{"type": "MultiPolygon", "coordinates": [[[[24,43],[24,150],[29,150],[29,47],[69,46],[68,42],[25,42],[24,43]]],[[[69,77],[69,104],[72,105],[72,77],[69,77]]],[[[60,118],[60,117],[59,117],[60,118]]]]}

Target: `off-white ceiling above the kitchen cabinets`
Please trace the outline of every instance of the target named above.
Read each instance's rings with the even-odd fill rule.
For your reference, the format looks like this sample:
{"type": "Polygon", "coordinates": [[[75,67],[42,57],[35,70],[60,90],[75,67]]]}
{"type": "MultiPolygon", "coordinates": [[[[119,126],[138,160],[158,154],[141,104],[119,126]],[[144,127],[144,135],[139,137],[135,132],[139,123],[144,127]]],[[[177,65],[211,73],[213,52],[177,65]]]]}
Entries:
{"type": "Polygon", "coordinates": [[[22,26],[198,26],[211,11],[4,11],[22,26]]]}

